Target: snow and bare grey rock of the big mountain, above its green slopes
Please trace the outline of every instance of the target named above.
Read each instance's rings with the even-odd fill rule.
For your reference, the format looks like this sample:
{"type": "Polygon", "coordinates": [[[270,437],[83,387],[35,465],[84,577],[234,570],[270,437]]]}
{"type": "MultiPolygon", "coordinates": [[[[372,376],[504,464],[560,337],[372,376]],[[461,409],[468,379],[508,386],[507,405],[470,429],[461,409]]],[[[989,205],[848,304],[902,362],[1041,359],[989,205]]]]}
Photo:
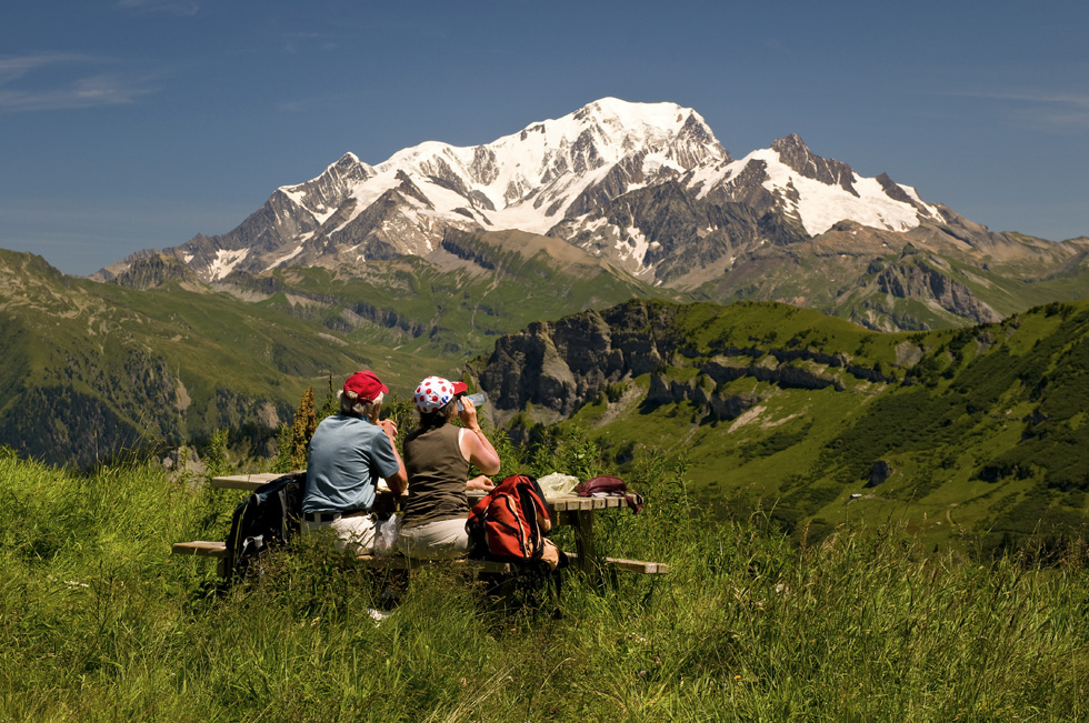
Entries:
{"type": "Polygon", "coordinates": [[[278,189],[230,233],[168,253],[217,281],[234,270],[428,255],[449,229],[517,229],[563,238],[645,281],[686,285],[699,281],[693,269],[725,270],[747,250],[842,220],[907,231],[952,217],[887,175],[862,178],[813,154],[797,135],[733,160],[695,110],[606,98],[483,145],[429,141],[378,165],[347,153],[278,189]]]}

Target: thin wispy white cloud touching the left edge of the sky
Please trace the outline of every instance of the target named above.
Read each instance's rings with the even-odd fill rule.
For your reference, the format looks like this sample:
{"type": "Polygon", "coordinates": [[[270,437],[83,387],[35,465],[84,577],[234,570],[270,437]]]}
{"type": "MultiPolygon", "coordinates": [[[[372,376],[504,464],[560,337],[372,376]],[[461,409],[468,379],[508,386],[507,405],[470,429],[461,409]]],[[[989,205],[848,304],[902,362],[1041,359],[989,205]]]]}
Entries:
{"type": "Polygon", "coordinates": [[[113,64],[109,59],[69,53],[0,59],[0,113],[122,106],[158,92],[146,72],[94,72],[113,64]],[[64,69],[72,70],[69,78],[52,79],[64,69]],[[34,82],[42,70],[50,71],[50,81],[34,82]]]}

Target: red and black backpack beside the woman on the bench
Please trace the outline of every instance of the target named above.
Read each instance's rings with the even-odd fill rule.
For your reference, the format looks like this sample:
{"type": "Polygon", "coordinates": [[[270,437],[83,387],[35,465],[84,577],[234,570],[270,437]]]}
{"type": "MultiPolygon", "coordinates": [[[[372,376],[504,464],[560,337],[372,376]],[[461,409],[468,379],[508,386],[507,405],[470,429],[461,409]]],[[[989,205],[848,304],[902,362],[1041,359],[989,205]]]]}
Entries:
{"type": "Polygon", "coordinates": [[[537,480],[514,474],[473,505],[466,522],[469,554],[509,562],[540,560],[552,529],[537,480]]]}

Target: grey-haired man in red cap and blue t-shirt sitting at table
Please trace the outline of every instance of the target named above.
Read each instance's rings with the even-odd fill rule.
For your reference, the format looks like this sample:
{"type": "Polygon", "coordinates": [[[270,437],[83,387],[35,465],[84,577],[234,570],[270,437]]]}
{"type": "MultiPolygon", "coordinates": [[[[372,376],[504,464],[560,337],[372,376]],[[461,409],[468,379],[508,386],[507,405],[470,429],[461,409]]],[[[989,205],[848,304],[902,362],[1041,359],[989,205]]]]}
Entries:
{"type": "Polygon", "coordinates": [[[387,393],[374,372],[356,372],[339,394],[340,413],[323,419],[310,440],[302,530],[332,528],[338,550],[351,545],[356,554],[367,554],[373,549],[377,520],[370,510],[379,478],[393,494],[408,486],[394,443],[397,424],[378,419],[387,393]]]}

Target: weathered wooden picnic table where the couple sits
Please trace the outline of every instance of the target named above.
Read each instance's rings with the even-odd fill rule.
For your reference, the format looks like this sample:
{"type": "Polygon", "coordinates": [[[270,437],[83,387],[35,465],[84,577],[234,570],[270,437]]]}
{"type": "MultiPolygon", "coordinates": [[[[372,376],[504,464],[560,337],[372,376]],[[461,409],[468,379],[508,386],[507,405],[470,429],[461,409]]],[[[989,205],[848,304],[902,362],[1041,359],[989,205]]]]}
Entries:
{"type": "MultiPolygon", "coordinates": [[[[257,474],[230,474],[226,476],[212,478],[211,485],[224,490],[256,490],[266,482],[270,482],[280,473],[262,472],[257,474]]],[[[407,494],[407,493],[406,493],[407,494]]],[[[467,490],[466,496],[469,506],[487,494],[482,490],[467,490]]],[[[398,501],[393,493],[384,485],[379,485],[378,496],[374,500],[374,508],[379,511],[392,512],[397,509],[398,501]]],[[[598,558],[597,545],[593,540],[593,519],[602,510],[628,509],[628,502],[622,496],[596,496],[581,498],[577,494],[568,493],[560,495],[546,495],[544,503],[549,509],[549,516],[553,524],[569,524],[575,528],[575,550],[572,562],[575,566],[591,575],[600,573],[600,559],[598,558]]],[[[646,574],[661,574],[669,572],[669,565],[659,562],[643,562],[641,560],[626,560],[621,558],[608,558],[606,564],[618,570],[629,572],[641,572],[646,574]]]]}

